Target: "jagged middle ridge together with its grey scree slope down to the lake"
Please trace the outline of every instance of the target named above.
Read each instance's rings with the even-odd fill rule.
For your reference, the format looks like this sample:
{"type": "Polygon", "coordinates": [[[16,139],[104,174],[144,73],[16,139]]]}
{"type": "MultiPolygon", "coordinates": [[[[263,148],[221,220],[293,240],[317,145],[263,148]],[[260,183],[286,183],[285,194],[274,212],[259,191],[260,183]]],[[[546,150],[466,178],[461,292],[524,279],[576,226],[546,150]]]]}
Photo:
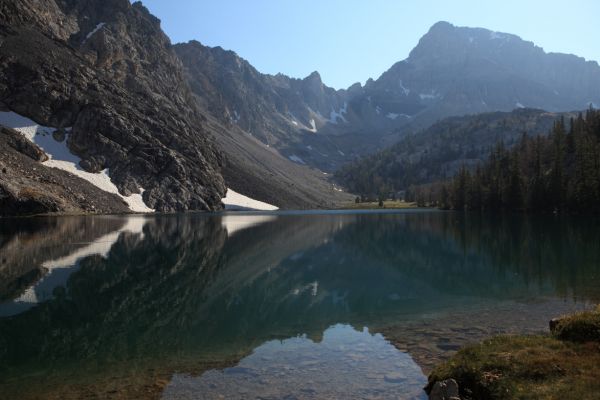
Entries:
{"type": "Polygon", "coordinates": [[[263,75],[233,52],[195,41],[173,49],[227,155],[223,174],[230,187],[284,208],[350,200],[289,149],[300,141],[299,133],[315,136],[310,126],[319,120],[318,110],[341,101],[343,91],[324,86],[317,73],[304,80],[263,75]]]}

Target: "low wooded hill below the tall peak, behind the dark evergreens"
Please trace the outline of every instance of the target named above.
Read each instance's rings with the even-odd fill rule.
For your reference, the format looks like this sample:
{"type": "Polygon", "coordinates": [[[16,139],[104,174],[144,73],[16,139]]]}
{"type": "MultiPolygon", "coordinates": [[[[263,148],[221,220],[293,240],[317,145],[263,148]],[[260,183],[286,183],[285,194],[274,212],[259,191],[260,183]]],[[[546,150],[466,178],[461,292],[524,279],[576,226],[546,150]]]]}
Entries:
{"type": "Polygon", "coordinates": [[[350,192],[365,195],[445,180],[463,165],[483,163],[499,142],[510,147],[523,134],[547,135],[561,116],[568,119],[577,114],[517,109],[448,117],[385,150],[345,165],[335,177],[350,192]]]}

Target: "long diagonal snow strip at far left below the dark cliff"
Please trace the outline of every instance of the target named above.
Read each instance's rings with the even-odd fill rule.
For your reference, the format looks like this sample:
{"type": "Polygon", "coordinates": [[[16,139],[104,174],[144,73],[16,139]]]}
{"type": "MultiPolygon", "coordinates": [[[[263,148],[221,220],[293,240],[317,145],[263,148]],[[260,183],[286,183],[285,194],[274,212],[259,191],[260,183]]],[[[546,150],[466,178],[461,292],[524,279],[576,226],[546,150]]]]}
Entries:
{"type": "Polygon", "coordinates": [[[142,199],[144,189],[140,188],[140,193],[125,197],[119,193],[119,189],[111,181],[108,168],[97,173],[86,172],[79,166],[81,159],[71,153],[67,147],[67,138],[70,128],[65,128],[65,139],[62,142],[55,140],[52,133],[55,128],[40,126],[32,120],[23,117],[14,112],[0,112],[0,124],[13,128],[20,132],[31,142],[38,145],[48,155],[48,160],[43,164],[47,167],[62,169],[73,175],[76,175],[90,182],[97,188],[108,193],[113,193],[121,197],[129,209],[133,212],[154,212],[153,209],[146,206],[142,199]]]}

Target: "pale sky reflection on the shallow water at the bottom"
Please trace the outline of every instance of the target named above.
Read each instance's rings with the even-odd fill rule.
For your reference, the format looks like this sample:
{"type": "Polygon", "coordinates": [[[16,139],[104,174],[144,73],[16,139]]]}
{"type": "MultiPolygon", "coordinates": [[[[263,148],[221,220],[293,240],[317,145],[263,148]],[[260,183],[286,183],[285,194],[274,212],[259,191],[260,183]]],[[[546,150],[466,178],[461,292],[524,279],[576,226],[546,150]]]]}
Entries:
{"type": "Polygon", "coordinates": [[[426,399],[426,384],[412,358],[381,335],[335,325],[320,342],[271,340],[235,367],[175,374],[163,399],[426,399]]]}

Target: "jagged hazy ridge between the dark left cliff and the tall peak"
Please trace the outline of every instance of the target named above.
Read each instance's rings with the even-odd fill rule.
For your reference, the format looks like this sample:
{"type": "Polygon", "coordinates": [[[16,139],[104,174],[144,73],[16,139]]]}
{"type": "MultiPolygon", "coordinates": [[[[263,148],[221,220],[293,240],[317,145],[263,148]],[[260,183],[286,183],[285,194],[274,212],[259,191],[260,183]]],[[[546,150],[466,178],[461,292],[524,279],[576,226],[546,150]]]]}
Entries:
{"type": "Polygon", "coordinates": [[[326,87],[317,72],[305,79],[264,75],[232,51],[197,41],[174,46],[199,103],[225,124],[266,144],[293,140],[323,126],[324,115],[343,107],[345,91],[326,87]],[[331,107],[331,109],[330,109],[331,107]]]}

